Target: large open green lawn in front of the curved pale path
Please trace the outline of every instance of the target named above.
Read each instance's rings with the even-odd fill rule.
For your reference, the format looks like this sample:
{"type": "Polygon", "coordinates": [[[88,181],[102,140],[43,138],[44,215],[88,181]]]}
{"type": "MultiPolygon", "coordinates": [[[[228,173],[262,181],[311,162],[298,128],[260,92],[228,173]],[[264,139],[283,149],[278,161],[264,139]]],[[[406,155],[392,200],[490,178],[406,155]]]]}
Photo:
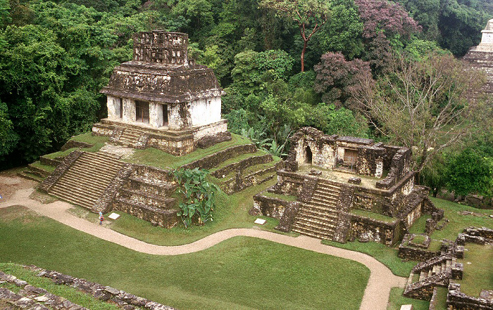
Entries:
{"type": "Polygon", "coordinates": [[[177,309],[358,309],[370,276],[355,261],[247,237],[192,254],[142,254],[23,207],[0,209],[0,235],[0,261],[35,264],[177,309]]]}

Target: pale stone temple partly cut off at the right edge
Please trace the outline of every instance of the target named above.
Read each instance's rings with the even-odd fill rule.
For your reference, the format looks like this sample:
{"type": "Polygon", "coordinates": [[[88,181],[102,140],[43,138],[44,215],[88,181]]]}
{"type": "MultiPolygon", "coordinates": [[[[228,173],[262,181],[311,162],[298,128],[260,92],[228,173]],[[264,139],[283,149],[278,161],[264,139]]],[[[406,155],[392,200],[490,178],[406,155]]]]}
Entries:
{"type": "Polygon", "coordinates": [[[486,72],[487,82],[482,91],[493,94],[493,19],[488,20],[485,30],[482,30],[481,43],[471,47],[463,60],[474,69],[486,72]]]}

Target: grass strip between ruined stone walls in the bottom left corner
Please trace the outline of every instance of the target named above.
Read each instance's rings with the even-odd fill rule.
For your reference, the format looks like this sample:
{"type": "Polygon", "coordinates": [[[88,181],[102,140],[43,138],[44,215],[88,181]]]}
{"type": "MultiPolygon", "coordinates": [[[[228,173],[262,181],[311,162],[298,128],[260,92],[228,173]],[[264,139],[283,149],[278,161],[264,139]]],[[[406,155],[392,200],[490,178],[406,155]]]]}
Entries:
{"type": "MultiPolygon", "coordinates": [[[[17,264],[11,263],[0,263],[0,271],[4,271],[5,273],[11,274],[20,280],[25,280],[30,285],[34,285],[37,288],[44,288],[51,294],[64,297],[70,302],[75,302],[79,306],[84,306],[87,309],[91,310],[118,310],[118,306],[114,304],[108,304],[107,302],[101,302],[94,297],[87,295],[75,288],[71,288],[67,285],[56,285],[49,278],[41,278],[36,276],[35,271],[30,271],[28,269],[23,268],[17,264]]],[[[12,292],[18,293],[22,288],[14,285],[13,283],[3,283],[0,284],[0,288],[8,288],[12,292]]],[[[3,309],[3,308],[2,308],[3,309]]]]}

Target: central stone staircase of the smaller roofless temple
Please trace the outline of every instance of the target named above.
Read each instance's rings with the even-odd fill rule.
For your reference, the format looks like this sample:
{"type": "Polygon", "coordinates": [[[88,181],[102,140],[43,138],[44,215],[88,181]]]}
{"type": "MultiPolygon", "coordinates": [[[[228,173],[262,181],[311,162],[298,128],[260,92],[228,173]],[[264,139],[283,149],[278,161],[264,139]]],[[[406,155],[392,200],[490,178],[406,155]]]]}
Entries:
{"type": "Polygon", "coordinates": [[[292,231],[332,240],[340,212],[337,209],[340,190],[335,183],[319,179],[311,200],[301,205],[294,219],[292,231]]]}

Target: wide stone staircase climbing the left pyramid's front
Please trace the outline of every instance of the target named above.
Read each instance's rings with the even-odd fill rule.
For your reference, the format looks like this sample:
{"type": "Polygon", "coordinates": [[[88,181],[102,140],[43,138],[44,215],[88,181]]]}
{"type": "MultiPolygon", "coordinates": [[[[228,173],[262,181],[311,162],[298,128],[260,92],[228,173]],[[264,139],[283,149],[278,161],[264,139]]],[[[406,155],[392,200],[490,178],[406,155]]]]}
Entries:
{"type": "Polygon", "coordinates": [[[122,167],[122,162],[107,153],[82,153],[49,193],[92,209],[122,167]]]}

